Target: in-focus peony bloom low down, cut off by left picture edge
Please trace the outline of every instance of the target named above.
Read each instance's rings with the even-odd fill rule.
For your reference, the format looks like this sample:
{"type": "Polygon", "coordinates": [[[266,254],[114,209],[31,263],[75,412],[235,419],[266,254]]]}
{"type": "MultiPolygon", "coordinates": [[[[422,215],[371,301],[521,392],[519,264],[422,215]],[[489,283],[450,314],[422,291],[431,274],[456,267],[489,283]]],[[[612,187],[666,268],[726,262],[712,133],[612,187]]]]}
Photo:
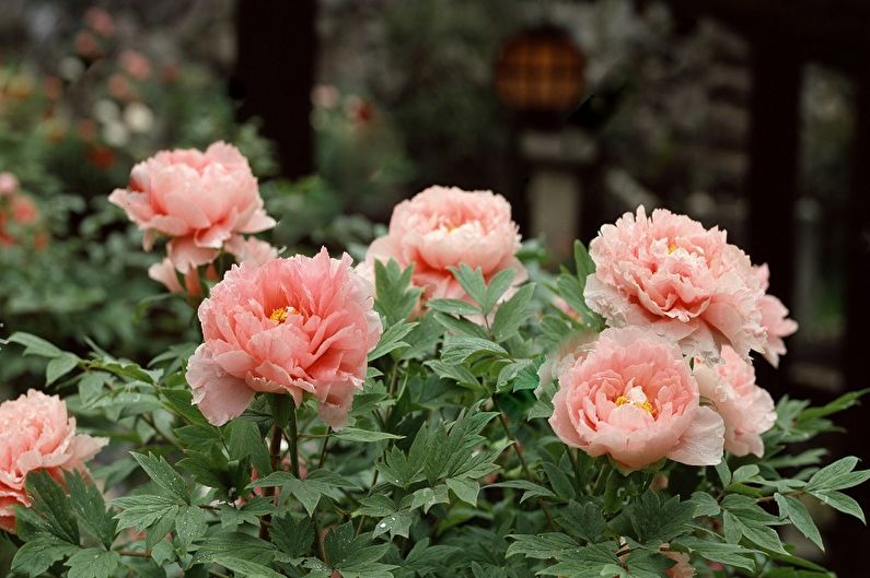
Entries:
{"type": "Polygon", "coordinates": [[[108,440],[76,434],[76,418],[57,396],[31,389],[0,403],[0,529],[15,531],[15,505],[30,506],[24,482],[30,472],[46,470],[62,480],[61,470],[85,472],[84,462],[108,440]]]}

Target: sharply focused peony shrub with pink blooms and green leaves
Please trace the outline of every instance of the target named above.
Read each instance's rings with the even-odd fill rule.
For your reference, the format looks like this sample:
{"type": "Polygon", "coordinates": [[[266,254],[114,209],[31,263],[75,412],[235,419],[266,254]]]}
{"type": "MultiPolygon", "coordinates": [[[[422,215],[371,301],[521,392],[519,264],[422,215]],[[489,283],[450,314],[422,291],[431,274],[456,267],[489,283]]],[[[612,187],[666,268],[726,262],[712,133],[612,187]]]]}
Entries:
{"type": "Polygon", "coordinates": [[[432,187],[360,262],[281,255],[223,143],[112,200],[166,240],[149,274],[201,339],[9,338],[65,398],[0,405],[12,576],[821,578],[813,517],[863,520],[870,470],[808,448],[863,392],[756,382],[797,325],[722,231],[639,208],[554,276],[502,197],[432,187]]]}

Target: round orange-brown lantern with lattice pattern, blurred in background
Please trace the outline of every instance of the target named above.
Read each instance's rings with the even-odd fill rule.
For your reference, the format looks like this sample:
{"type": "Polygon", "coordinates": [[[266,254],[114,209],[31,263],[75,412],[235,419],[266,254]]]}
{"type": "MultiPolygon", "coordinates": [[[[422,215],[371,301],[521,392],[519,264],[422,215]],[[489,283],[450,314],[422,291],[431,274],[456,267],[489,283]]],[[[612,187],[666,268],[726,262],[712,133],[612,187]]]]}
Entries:
{"type": "Polygon", "coordinates": [[[509,38],[496,64],[499,98],[519,113],[559,115],[580,104],[584,59],[570,36],[541,26],[509,38]]]}

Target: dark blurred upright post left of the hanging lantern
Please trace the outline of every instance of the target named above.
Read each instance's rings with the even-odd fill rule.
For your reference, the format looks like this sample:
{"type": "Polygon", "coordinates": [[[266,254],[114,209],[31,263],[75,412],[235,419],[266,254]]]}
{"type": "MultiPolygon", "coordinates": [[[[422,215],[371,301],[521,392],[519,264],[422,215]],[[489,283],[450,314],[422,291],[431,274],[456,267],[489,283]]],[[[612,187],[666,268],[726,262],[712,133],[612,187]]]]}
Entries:
{"type": "Polygon", "coordinates": [[[263,120],[275,141],[281,174],[314,170],[311,89],[314,83],[315,0],[239,0],[237,60],[231,90],[242,98],[240,119],[263,120]]]}

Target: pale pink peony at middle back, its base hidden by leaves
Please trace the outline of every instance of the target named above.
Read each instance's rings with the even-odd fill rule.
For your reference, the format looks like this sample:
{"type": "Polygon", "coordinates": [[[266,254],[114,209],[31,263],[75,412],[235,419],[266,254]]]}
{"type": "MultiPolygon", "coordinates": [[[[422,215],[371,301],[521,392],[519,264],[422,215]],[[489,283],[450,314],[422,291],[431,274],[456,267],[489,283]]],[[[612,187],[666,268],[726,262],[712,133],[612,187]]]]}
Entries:
{"type": "Polygon", "coordinates": [[[527,276],[514,257],[519,248],[519,227],[502,196],[429,187],[393,209],[390,232],[371,244],[366,267],[372,271],[374,261],[390,259],[403,268],[413,264],[413,283],[424,288],[425,299],[464,298],[465,291],[450,267],[479,267],[487,282],[513,269],[518,285],[527,276]]]}

